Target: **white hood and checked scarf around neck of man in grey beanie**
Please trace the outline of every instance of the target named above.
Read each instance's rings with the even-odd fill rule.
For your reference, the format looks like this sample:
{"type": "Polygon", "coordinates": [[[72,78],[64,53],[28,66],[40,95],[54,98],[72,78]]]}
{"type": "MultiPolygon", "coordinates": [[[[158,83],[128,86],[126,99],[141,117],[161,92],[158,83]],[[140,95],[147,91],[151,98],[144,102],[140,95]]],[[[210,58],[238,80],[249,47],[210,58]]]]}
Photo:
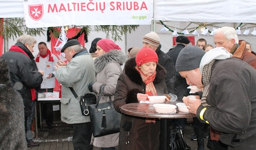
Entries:
{"type": "Polygon", "coordinates": [[[232,54],[229,53],[225,48],[223,47],[217,47],[214,49],[209,50],[204,54],[204,56],[201,59],[199,69],[202,73],[202,82],[203,82],[203,94],[201,98],[201,104],[204,107],[209,107],[207,103],[207,97],[209,93],[209,87],[211,83],[211,71],[212,66],[215,63],[215,60],[225,60],[232,57],[232,54]]]}

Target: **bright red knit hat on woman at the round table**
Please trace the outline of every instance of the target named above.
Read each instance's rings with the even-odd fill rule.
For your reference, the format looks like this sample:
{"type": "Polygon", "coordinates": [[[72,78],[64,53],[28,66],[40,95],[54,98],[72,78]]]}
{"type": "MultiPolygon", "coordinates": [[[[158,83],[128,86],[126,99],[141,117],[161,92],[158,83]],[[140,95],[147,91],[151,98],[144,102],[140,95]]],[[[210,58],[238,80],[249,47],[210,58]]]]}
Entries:
{"type": "Polygon", "coordinates": [[[143,47],[137,53],[135,61],[138,66],[141,66],[143,63],[147,63],[150,61],[158,63],[158,56],[153,49],[149,47],[143,47]]]}

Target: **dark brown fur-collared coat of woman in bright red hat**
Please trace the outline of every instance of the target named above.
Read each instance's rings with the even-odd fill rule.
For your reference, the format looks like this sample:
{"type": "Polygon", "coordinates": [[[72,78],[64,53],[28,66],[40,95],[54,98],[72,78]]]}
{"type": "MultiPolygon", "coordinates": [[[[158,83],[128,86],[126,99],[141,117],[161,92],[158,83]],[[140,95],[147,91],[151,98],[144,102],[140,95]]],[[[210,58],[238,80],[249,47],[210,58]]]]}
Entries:
{"type": "MultiPolygon", "coordinates": [[[[135,58],[129,59],[117,81],[114,106],[120,112],[120,107],[126,103],[138,103],[137,93],[145,93],[145,84],[135,69],[135,58]]],[[[153,81],[159,96],[167,94],[165,84],[166,70],[157,64],[156,77],[153,81]]],[[[122,150],[159,149],[160,121],[145,123],[145,118],[122,115],[120,125],[119,148],[122,150]],[[128,133],[129,131],[129,133],[128,133]]]]}

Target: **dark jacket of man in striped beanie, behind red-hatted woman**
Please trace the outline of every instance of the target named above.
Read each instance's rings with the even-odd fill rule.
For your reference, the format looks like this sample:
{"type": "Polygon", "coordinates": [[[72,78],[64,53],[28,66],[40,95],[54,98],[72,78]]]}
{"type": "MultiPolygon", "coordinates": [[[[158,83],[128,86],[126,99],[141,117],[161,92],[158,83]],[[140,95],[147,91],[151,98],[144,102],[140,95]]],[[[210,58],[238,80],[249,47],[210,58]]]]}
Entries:
{"type": "Polygon", "coordinates": [[[159,64],[162,65],[167,71],[165,77],[165,83],[169,93],[174,93],[174,84],[175,84],[175,65],[173,59],[170,58],[166,53],[161,50],[161,45],[155,50],[159,58],[159,64]]]}

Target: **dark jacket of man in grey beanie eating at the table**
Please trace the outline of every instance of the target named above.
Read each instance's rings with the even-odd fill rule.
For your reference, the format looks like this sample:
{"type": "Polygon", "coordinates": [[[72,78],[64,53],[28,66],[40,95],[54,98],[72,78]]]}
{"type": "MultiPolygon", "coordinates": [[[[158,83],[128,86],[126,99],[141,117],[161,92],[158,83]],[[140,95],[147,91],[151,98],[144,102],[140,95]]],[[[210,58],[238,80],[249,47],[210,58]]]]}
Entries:
{"type": "MultiPolygon", "coordinates": [[[[255,91],[256,70],[248,63],[236,58],[215,61],[207,98],[211,107],[203,118],[222,132],[220,140],[228,149],[256,147],[255,91]]],[[[200,105],[197,110],[198,118],[202,108],[200,105]]]]}

